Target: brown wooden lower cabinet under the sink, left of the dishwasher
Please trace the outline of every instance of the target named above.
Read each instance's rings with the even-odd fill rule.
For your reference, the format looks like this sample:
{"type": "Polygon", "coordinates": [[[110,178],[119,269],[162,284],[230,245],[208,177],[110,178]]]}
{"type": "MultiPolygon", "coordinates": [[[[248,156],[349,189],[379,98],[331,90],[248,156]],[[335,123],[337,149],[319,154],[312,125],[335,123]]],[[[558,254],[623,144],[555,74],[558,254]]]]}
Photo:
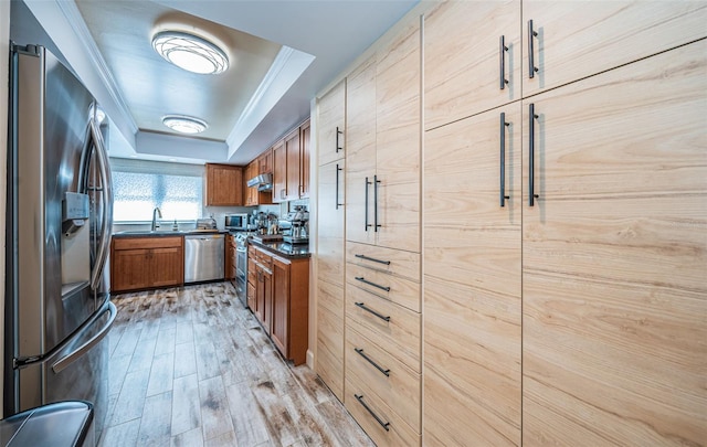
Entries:
{"type": "Polygon", "coordinates": [[[115,237],[113,240],[112,291],[179,286],[183,280],[183,237],[115,237]]]}

